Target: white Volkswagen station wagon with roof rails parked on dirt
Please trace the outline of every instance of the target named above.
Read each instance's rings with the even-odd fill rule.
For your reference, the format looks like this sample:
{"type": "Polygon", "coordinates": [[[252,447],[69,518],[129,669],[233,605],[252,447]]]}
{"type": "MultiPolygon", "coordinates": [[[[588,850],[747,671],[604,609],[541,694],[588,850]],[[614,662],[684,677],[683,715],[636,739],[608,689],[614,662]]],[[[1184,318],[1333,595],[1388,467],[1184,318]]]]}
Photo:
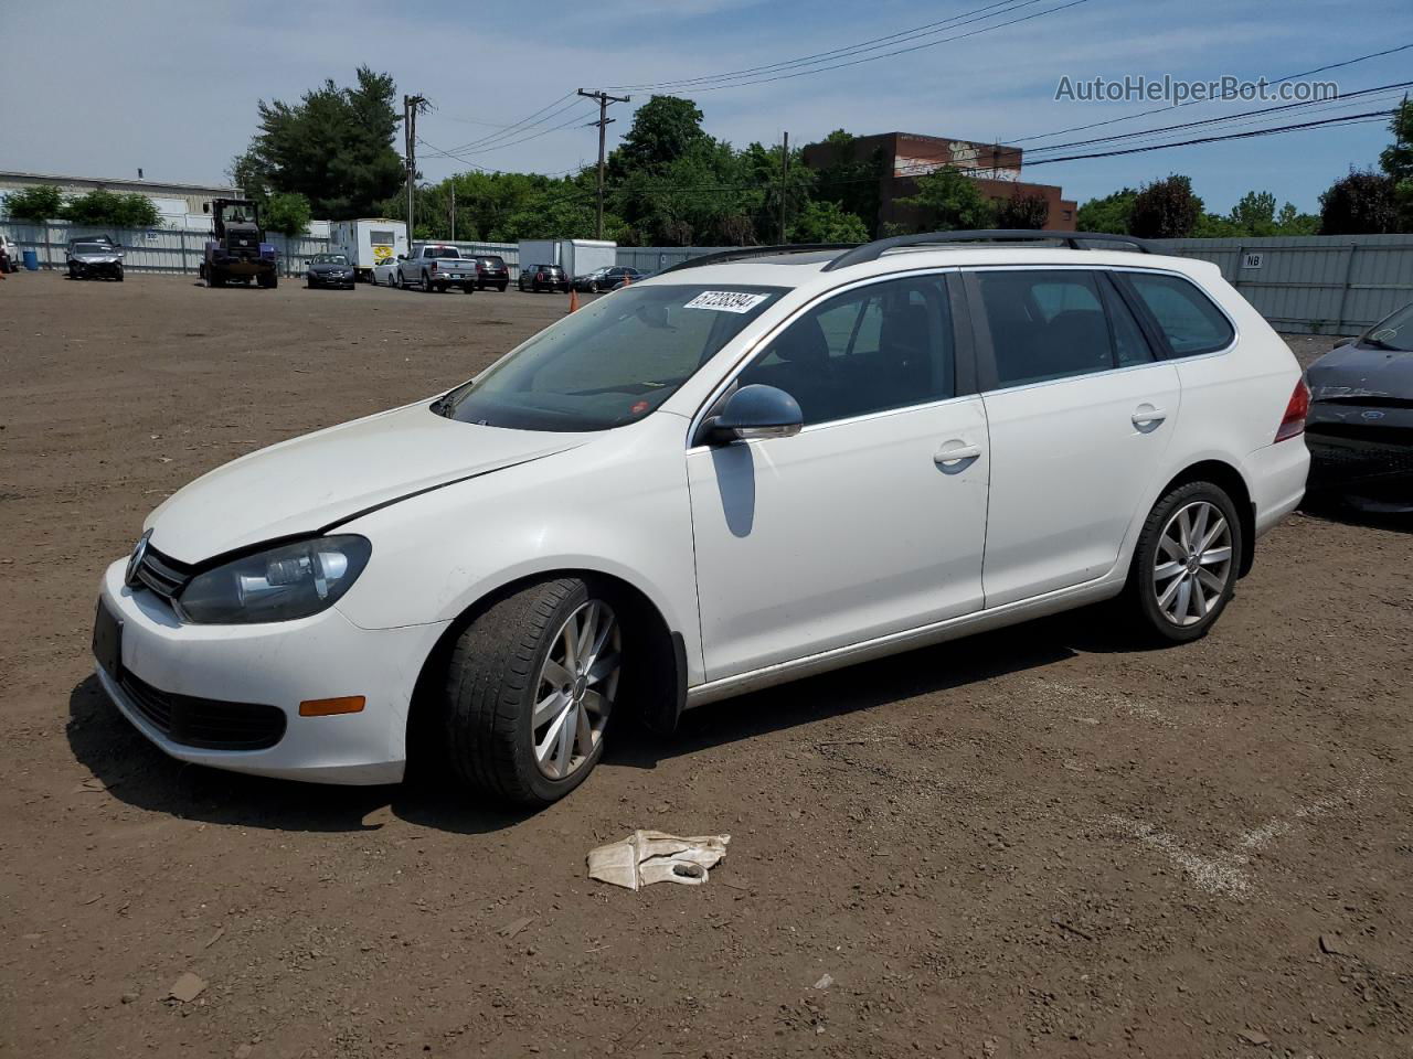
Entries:
{"type": "Polygon", "coordinates": [[[219,467],[107,569],[97,676],[184,761],[396,781],[417,722],[545,803],[626,710],[1106,597],[1201,637],[1303,494],[1300,369],[1211,264],[1019,237],[698,258],[219,467]]]}

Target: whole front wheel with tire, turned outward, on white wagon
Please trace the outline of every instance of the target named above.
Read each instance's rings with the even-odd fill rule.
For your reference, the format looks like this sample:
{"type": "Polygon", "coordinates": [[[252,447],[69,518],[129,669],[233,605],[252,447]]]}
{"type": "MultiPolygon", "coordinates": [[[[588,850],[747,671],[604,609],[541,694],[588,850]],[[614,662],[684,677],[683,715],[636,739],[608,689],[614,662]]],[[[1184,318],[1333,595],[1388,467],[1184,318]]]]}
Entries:
{"type": "Polygon", "coordinates": [[[613,607],[578,578],[533,585],[480,614],[447,671],[454,772],[520,805],[569,794],[603,754],[622,645],[613,607]]]}

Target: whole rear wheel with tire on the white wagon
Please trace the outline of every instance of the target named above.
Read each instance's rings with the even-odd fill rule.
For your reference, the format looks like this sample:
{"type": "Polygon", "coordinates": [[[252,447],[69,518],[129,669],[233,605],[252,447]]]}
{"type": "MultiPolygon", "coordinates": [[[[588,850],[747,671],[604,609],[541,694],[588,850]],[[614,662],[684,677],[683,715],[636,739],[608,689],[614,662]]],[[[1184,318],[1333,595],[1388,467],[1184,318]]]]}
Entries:
{"type": "Polygon", "coordinates": [[[1207,635],[1236,593],[1242,545],[1236,505],[1221,486],[1188,481],[1153,505],[1126,587],[1150,638],[1187,644],[1207,635]]]}

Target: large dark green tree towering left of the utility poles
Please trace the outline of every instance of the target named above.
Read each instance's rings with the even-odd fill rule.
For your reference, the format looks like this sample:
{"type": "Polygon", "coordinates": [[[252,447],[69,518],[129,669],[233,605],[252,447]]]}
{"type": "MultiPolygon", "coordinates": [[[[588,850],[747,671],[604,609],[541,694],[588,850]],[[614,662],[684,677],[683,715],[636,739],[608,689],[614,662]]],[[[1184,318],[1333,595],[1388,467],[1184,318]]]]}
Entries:
{"type": "Polygon", "coordinates": [[[403,184],[406,169],[393,148],[401,116],[389,73],[359,66],[357,83],[333,80],[295,104],[259,104],[260,131],[233,164],[252,198],[298,192],[317,216],[367,216],[403,184]]]}

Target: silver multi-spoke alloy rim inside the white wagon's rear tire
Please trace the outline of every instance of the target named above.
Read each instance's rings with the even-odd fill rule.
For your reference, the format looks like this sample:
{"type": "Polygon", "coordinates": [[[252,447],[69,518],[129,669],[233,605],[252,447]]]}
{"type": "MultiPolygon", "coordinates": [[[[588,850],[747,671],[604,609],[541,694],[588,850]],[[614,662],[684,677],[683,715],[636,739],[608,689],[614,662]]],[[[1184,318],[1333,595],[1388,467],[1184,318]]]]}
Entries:
{"type": "Polygon", "coordinates": [[[1195,626],[1221,602],[1232,575],[1232,531],[1205,500],[1184,504],[1159,535],[1153,563],[1157,609],[1174,626],[1195,626]]]}

